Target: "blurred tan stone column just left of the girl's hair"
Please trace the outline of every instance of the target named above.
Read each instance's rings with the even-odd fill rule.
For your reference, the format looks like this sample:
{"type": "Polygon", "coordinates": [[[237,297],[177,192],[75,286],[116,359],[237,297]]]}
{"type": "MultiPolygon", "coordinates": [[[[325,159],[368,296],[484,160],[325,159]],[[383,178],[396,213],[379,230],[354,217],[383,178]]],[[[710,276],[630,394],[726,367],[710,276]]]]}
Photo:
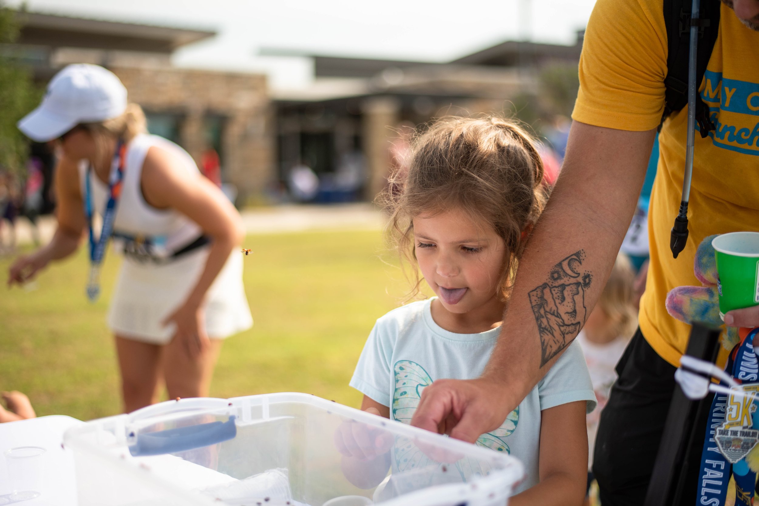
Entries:
{"type": "Polygon", "coordinates": [[[395,138],[393,129],[401,119],[401,102],[393,97],[371,97],[364,101],[361,108],[364,113],[364,155],[369,169],[369,183],[364,197],[373,201],[387,184],[389,148],[395,138]]]}

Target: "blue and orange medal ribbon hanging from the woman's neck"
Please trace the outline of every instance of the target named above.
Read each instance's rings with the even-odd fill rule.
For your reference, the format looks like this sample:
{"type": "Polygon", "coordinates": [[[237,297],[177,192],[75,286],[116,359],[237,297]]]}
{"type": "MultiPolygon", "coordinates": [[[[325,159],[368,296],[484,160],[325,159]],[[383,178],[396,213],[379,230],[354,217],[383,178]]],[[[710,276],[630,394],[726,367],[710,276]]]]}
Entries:
{"type": "Polygon", "coordinates": [[[97,241],[93,230],[93,198],[92,198],[92,165],[87,169],[87,177],[84,180],[84,213],[87,215],[87,225],[90,228],[90,280],[87,283],[87,298],[96,301],[100,295],[99,269],[102,259],[106,255],[106,245],[113,233],[113,222],[116,217],[116,205],[121,197],[121,186],[124,180],[124,160],[126,145],[121,140],[116,145],[116,152],[111,163],[109,175],[109,198],[106,210],[102,215],[102,230],[97,241]]]}

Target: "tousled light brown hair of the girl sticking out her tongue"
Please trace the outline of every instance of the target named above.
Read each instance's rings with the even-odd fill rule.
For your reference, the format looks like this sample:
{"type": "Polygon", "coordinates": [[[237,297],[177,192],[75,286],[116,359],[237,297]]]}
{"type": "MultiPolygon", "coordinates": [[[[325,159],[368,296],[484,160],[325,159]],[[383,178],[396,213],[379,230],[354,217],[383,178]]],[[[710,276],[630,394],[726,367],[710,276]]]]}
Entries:
{"type": "Polygon", "coordinates": [[[445,117],[420,133],[414,142],[408,172],[391,174],[378,200],[389,211],[389,235],[404,261],[411,264],[415,298],[422,278],[416,269],[414,217],[451,208],[487,223],[505,242],[508,254],[499,280],[505,301],[518,258],[546,204],[543,162],[536,141],[517,123],[499,117],[445,117]]]}

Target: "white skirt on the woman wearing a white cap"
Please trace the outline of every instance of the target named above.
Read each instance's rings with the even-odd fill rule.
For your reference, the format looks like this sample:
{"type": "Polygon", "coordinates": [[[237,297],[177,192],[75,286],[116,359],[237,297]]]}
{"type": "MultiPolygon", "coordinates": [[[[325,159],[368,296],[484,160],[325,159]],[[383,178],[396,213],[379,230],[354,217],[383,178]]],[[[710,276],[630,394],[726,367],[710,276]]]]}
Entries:
{"type": "MultiPolygon", "coordinates": [[[[176,311],[194,288],[208,258],[200,248],[166,264],[141,264],[125,257],[111,299],[108,325],[118,336],[165,345],[175,325],[161,322],[176,311]]],[[[232,251],[206,293],[206,333],[224,339],[250,329],[253,317],[242,284],[243,258],[232,251]]]]}

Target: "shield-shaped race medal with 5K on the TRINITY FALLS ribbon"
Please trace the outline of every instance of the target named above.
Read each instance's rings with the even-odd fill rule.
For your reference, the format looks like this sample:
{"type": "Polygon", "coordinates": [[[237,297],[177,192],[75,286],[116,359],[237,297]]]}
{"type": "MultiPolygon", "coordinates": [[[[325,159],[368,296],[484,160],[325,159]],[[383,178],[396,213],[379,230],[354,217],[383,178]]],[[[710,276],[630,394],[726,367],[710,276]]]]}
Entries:
{"type": "Polygon", "coordinates": [[[756,392],[759,392],[759,383],[742,385],[745,392],[754,392],[754,395],[743,397],[730,395],[726,406],[725,422],[714,431],[714,441],[720,453],[725,456],[730,464],[742,460],[759,442],[759,430],[753,429],[754,404],[756,392]]]}

